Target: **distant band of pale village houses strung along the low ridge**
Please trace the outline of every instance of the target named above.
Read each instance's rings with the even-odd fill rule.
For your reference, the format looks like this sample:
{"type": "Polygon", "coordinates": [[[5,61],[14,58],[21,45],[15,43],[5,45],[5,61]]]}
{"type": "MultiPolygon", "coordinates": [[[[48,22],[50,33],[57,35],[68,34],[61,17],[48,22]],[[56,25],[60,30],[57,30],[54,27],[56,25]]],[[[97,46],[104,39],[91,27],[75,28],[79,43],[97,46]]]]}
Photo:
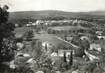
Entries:
{"type": "MultiPolygon", "coordinates": [[[[26,24],[27,27],[29,26],[36,26],[36,25],[47,25],[47,26],[62,26],[62,25],[76,25],[76,24],[90,24],[93,25],[93,23],[83,20],[77,20],[77,19],[70,19],[70,20],[37,20],[35,22],[28,22],[26,24]]],[[[16,27],[19,26],[19,24],[15,24],[16,27]]]]}

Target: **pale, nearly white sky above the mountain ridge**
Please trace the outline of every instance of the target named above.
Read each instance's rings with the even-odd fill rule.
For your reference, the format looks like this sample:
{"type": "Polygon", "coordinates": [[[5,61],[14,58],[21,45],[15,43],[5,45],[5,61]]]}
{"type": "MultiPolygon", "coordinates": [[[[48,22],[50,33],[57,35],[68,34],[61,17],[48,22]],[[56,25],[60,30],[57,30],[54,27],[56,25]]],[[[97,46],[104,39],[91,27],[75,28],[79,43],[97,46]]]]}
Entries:
{"type": "Polygon", "coordinates": [[[62,10],[86,12],[105,10],[105,0],[0,0],[9,5],[9,11],[62,10]]]}

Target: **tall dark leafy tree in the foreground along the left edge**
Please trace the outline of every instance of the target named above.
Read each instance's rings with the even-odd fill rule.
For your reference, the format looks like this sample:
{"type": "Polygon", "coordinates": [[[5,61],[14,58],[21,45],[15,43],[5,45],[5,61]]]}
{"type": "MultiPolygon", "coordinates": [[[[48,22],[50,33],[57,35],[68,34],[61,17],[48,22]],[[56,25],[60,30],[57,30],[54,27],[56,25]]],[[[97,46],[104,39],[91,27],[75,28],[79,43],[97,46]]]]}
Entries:
{"type": "Polygon", "coordinates": [[[8,23],[8,6],[0,7],[0,64],[4,61],[10,61],[14,55],[15,37],[13,30],[14,24],[8,23]]]}

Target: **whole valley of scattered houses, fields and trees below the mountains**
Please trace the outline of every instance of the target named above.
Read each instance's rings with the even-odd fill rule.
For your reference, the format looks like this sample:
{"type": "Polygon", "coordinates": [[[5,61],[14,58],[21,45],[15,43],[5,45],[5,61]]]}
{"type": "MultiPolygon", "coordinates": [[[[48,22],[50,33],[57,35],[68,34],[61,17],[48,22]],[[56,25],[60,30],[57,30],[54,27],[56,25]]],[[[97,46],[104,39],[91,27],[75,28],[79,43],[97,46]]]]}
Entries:
{"type": "Polygon", "coordinates": [[[28,67],[26,73],[104,73],[105,30],[94,23],[37,20],[15,26],[13,70],[28,67]]]}

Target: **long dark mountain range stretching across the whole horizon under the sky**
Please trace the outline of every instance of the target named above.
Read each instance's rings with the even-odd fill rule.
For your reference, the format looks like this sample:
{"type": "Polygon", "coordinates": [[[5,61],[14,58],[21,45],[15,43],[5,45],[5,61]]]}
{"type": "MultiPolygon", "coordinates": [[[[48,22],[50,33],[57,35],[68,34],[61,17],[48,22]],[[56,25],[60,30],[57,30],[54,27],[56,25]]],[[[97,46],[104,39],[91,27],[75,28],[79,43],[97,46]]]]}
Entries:
{"type": "Polygon", "coordinates": [[[47,17],[65,18],[105,18],[105,11],[64,12],[57,10],[11,12],[9,21],[19,22],[22,19],[44,19],[47,17]]]}

